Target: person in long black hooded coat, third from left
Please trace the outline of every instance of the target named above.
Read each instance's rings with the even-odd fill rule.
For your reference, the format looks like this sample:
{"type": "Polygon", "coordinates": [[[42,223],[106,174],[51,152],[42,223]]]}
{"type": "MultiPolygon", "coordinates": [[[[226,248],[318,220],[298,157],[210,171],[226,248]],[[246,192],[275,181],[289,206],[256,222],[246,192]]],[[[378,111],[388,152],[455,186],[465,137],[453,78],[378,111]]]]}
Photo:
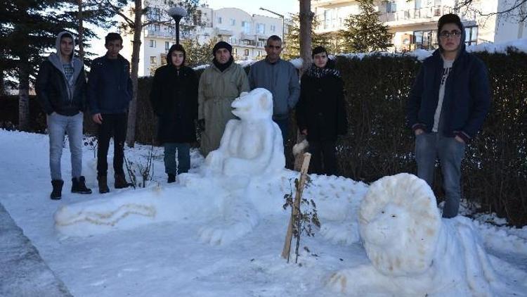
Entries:
{"type": "Polygon", "coordinates": [[[167,65],[155,71],[150,102],[159,119],[157,140],[164,146],[164,168],[168,182],[190,169],[190,143],[196,141],[197,75],[185,66],[186,53],[174,44],[167,65]],[[176,165],[176,151],[178,163],[176,165]]]}

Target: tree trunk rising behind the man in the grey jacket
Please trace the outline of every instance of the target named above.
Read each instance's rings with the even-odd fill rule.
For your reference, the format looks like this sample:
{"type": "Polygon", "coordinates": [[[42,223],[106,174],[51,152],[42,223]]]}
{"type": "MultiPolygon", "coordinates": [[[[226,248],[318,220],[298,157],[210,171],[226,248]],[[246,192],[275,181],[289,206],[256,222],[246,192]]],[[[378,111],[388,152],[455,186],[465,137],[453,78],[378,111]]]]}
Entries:
{"type": "Polygon", "coordinates": [[[311,65],[311,23],[313,13],[311,12],[311,0],[300,0],[300,57],[302,68],[300,75],[311,65]]]}

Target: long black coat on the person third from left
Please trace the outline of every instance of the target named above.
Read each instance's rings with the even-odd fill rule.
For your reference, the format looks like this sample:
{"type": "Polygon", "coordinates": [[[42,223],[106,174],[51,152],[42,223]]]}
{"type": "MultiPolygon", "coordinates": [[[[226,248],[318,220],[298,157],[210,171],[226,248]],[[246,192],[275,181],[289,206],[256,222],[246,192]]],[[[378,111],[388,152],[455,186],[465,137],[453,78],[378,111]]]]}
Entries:
{"type": "Polygon", "coordinates": [[[197,75],[192,68],[164,65],[155,71],[150,102],[159,118],[160,143],[196,141],[197,75]]]}

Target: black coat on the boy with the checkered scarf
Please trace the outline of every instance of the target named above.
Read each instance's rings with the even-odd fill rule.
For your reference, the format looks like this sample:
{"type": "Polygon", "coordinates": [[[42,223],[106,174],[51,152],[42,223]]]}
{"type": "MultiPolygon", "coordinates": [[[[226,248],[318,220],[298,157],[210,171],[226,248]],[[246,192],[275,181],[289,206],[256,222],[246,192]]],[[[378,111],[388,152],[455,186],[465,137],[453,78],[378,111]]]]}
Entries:
{"type": "Polygon", "coordinates": [[[308,141],[336,141],[337,135],[346,134],[348,120],[342,79],[335,75],[302,75],[296,114],[300,131],[308,130],[308,141]]]}

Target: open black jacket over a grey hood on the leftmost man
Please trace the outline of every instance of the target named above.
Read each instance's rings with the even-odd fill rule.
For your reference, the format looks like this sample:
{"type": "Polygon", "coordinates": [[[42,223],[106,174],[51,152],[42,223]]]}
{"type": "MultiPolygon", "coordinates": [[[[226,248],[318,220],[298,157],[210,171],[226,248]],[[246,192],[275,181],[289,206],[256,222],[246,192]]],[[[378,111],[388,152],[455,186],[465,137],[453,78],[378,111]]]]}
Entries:
{"type": "Polygon", "coordinates": [[[49,60],[42,63],[37,76],[35,89],[37,100],[48,115],[56,112],[60,115],[77,115],[86,110],[86,76],[84,69],[79,72],[72,99],[67,91],[63,72],[49,60]]]}

